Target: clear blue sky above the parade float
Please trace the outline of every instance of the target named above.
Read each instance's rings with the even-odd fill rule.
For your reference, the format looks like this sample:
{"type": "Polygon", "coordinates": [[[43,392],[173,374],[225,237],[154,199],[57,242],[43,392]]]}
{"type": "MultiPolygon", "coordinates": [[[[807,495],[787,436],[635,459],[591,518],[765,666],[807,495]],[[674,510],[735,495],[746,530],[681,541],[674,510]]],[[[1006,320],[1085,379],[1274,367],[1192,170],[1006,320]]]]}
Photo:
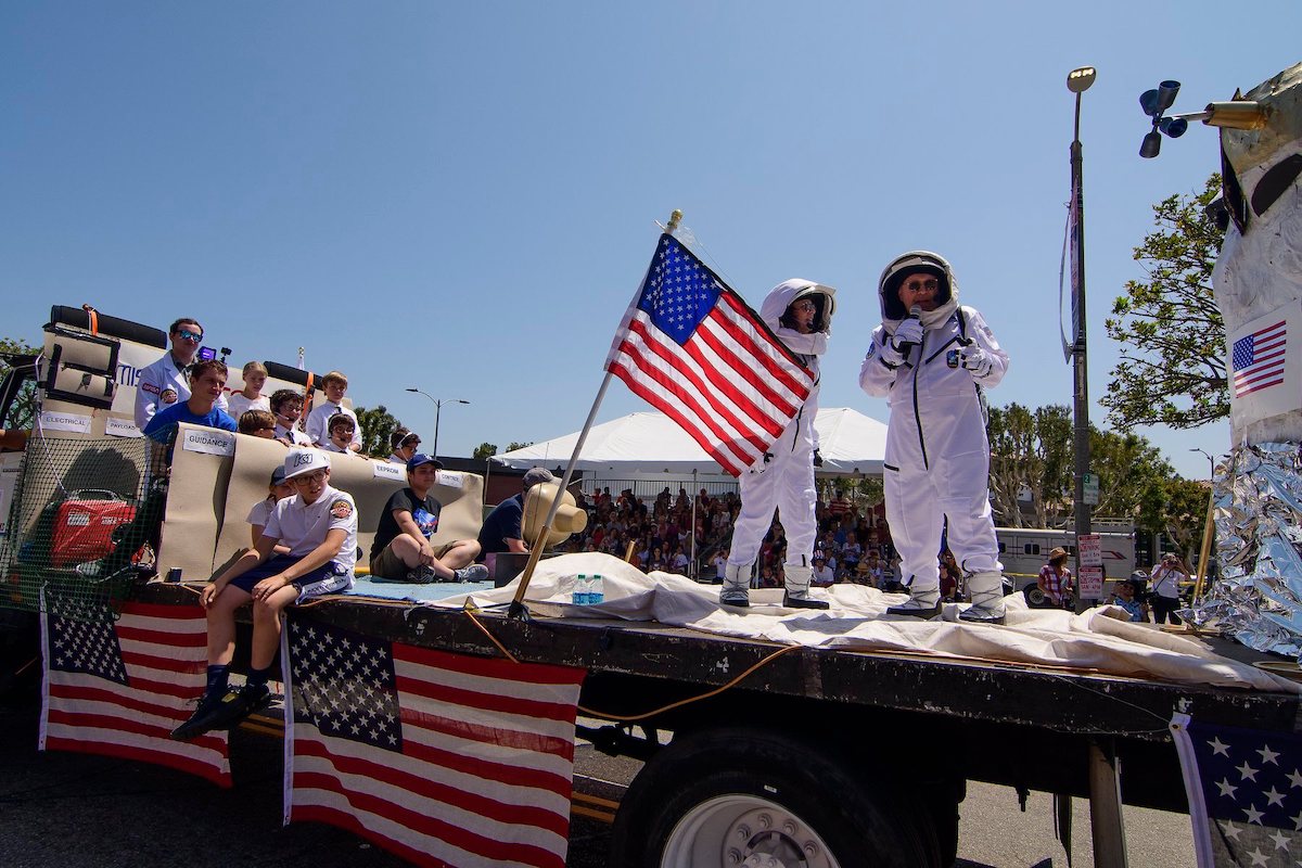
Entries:
{"type": "MultiPolygon", "coordinates": [[[[758,307],[837,288],[823,406],[857,387],[876,277],[924,247],[1012,355],[995,403],[1070,402],[1059,258],[1085,94],[1091,419],[1103,318],[1154,202],[1215,130],[1141,160],[1141,91],[1178,111],[1298,61],[1302,7],[1228,3],[8,3],[0,334],[52,303],[349,373],[440,452],[577,429],[672,208],[758,307]],[[1226,34],[1237,34],[1228,39],[1226,34]],[[1237,47],[1237,49],[1236,49],[1237,47]]],[[[644,409],[618,383],[599,419],[644,409]]],[[[1141,429],[1177,470],[1229,427],[1141,429]]]]}

